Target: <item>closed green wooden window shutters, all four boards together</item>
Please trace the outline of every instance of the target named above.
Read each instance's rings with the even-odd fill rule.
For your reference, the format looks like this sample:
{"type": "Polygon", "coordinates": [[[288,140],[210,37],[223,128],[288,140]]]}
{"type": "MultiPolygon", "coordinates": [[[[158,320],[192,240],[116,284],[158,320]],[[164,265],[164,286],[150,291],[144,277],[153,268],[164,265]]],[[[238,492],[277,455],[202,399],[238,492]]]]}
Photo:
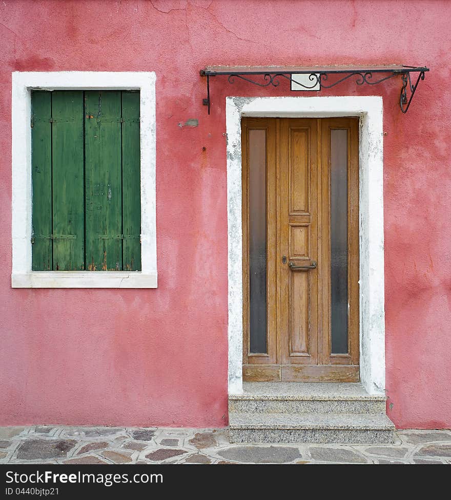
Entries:
{"type": "Polygon", "coordinates": [[[33,91],[33,270],[141,269],[139,92],[33,91]]]}

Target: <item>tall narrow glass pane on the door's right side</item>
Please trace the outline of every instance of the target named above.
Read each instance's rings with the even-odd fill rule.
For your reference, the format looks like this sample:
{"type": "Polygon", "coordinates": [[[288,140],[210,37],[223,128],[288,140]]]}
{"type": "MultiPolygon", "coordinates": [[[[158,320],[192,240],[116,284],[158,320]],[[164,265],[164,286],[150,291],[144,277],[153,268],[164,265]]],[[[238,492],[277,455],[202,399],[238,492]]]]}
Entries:
{"type": "Polygon", "coordinates": [[[331,130],[332,354],[347,354],[347,130],[331,130]]]}

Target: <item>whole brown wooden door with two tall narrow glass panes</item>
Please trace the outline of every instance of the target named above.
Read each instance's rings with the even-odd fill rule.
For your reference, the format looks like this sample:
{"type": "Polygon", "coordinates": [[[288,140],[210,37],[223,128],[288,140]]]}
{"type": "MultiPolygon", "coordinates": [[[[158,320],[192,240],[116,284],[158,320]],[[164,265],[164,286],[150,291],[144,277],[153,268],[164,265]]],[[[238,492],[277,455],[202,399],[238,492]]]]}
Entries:
{"type": "Polygon", "coordinates": [[[358,381],[358,119],[242,120],[243,379],[358,381]]]}

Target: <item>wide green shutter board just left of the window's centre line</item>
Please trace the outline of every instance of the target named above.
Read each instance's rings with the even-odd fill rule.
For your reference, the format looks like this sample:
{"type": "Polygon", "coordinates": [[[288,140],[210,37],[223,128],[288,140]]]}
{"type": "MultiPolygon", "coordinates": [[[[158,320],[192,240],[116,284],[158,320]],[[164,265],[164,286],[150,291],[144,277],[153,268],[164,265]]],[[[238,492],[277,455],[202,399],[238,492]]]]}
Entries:
{"type": "Polygon", "coordinates": [[[52,96],[53,270],[85,269],[83,91],[52,96]]]}

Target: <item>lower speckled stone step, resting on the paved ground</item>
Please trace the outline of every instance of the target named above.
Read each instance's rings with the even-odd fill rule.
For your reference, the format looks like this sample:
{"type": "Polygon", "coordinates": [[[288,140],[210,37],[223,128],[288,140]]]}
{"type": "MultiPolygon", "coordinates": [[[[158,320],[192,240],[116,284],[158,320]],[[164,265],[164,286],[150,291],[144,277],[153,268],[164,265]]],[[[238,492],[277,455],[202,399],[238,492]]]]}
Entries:
{"type": "Polygon", "coordinates": [[[394,431],[386,415],[229,414],[232,443],[393,443],[394,431]]]}

